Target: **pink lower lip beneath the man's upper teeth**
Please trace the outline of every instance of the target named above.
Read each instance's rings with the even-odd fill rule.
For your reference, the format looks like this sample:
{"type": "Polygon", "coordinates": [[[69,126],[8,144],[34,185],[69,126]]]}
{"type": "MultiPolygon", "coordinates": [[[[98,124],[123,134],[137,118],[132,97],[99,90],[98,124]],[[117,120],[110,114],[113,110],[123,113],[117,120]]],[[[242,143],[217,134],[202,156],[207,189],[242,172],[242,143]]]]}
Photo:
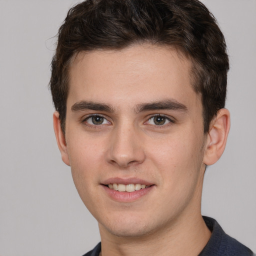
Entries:
{"type": "Polygon", "coordinates": [[[119,202],[132,202],[135,201],[142,196],[148,194],[154,187],[154,185],[151,185],[146,188],[142,188],[139,190],[135,190],[133,192],[120,192],[116,191],[114,189],[110,189],[108,186],[101,185],[103,189],[106,191],[108,196],[110,196],[113,200],[119,201],[119,202]]]}

